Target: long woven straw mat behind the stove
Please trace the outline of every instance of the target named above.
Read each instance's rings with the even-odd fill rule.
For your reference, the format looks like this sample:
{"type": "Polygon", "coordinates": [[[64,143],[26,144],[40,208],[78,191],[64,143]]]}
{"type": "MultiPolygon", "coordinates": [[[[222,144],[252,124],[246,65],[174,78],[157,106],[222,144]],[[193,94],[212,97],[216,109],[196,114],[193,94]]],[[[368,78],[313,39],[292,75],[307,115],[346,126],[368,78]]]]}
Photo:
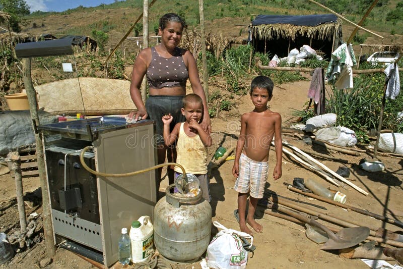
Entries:
{"type": "Polygon", "coordinates": [[[84,111],[83,100],[86,111],[134,110],[129,87],[127,80],[72,78],[38,85],[35,90],[39,93],[39,107],[55,114],[84,111]]]}

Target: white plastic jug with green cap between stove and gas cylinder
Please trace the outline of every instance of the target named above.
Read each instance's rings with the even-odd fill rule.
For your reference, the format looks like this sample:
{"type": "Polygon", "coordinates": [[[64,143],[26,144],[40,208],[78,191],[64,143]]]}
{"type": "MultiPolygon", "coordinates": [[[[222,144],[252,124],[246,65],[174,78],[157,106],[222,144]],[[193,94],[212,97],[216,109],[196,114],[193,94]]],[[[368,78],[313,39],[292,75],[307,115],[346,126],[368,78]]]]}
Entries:
{"type": "Polygon", "coordinates": [[[132,222],[129,236],[133,263],[145,261],[154,253],[154,227],[149,216],[132,222]]]}

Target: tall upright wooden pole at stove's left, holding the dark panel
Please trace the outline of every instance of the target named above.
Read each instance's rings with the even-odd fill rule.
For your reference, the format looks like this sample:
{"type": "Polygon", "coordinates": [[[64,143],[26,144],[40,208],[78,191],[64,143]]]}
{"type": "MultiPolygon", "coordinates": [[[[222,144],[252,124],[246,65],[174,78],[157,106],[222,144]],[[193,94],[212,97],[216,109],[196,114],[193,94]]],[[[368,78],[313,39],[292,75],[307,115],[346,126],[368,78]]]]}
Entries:
{"type": "MultiPolygon", "coordinates": [[[[29,110],[31,112],[31,118],[33,122],[34,131],[36,126],[39,125],[39,117],[37,111],[37,102],[34,85],[32,84],[31,78],[31,59],[24,58],[23,60],[23,81],[25,90],[27,92],[29,110]]],[[[46,172],[45,172],[45,160],[43,158],[43,145],[39,133],[35,132],[35,143],[36,143],[36,159],[38,164],[39,181],[42,190],[42,220],[43,220],[43,234],[45,236],[45,247],[47,256],[49,258],[53,257],[56,252],[53,241],[53,228],[52,220],[50,214],[50,201],[49,193],[46,183],[46,172]]]]}

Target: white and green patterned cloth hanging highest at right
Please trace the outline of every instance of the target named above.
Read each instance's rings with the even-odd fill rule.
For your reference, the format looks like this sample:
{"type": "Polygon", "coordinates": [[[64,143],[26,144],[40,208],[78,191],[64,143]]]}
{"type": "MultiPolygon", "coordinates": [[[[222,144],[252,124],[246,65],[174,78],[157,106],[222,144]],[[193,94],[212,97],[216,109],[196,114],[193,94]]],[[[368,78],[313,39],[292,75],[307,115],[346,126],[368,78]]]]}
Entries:
{"type": "Polygon", "coordinates": [[[326,70],[326,80],[334,83],[338,89],[353,87],[353,69],[357,65],[351,44],[342,44],[331,53],[329,66],[326,70]]]}

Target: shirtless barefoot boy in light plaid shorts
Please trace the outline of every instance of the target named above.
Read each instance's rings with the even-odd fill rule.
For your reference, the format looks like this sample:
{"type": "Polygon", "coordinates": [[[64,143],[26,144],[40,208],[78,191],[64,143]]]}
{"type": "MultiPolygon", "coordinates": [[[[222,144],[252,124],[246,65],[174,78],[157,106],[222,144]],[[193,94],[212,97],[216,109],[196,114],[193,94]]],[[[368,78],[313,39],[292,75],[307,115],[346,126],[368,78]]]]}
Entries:
{"type": "Polygon", "coordinates": [[[250,85],[250,99],[254,110],[241,117],[241,132],[236,146],[232,174],[236,177],[234,190],[238,192],[239,226],[242,232],[253,235],[246,226],[261,233],[263,227],[254,220],[257,201],[263,197],[268,176],[268,152],[275,137],[276,167],[273,178],[282,175],[281,162],[283,142],[281,140],[281,116],[267,109],[267,102],[273,97],[273,81],[265,76],[257,76],[250,85]],[[249,194],[249,209],[246,201],[249,194]]]}

